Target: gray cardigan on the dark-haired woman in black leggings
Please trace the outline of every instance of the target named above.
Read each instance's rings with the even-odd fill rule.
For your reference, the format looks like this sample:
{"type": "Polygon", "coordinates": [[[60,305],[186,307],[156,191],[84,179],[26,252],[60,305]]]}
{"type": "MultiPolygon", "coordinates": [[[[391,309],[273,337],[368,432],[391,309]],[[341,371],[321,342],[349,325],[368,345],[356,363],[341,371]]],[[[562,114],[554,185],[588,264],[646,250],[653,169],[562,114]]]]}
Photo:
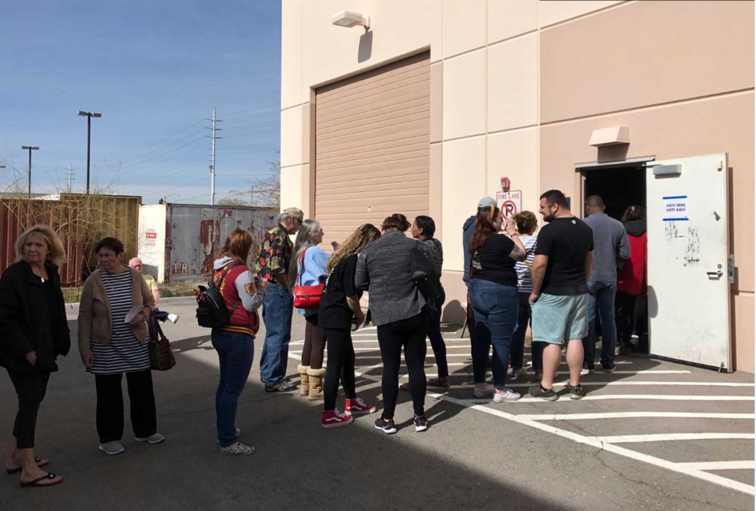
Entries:
{"type": "Polygon", "coordinates": [[[426,305],[412,282],[412,252],[418,246],[427,254],[423,243],[389,230],[358,257],[355,285],[370,292],[370,315],[376,326],[417,316],[426,305]]]}

